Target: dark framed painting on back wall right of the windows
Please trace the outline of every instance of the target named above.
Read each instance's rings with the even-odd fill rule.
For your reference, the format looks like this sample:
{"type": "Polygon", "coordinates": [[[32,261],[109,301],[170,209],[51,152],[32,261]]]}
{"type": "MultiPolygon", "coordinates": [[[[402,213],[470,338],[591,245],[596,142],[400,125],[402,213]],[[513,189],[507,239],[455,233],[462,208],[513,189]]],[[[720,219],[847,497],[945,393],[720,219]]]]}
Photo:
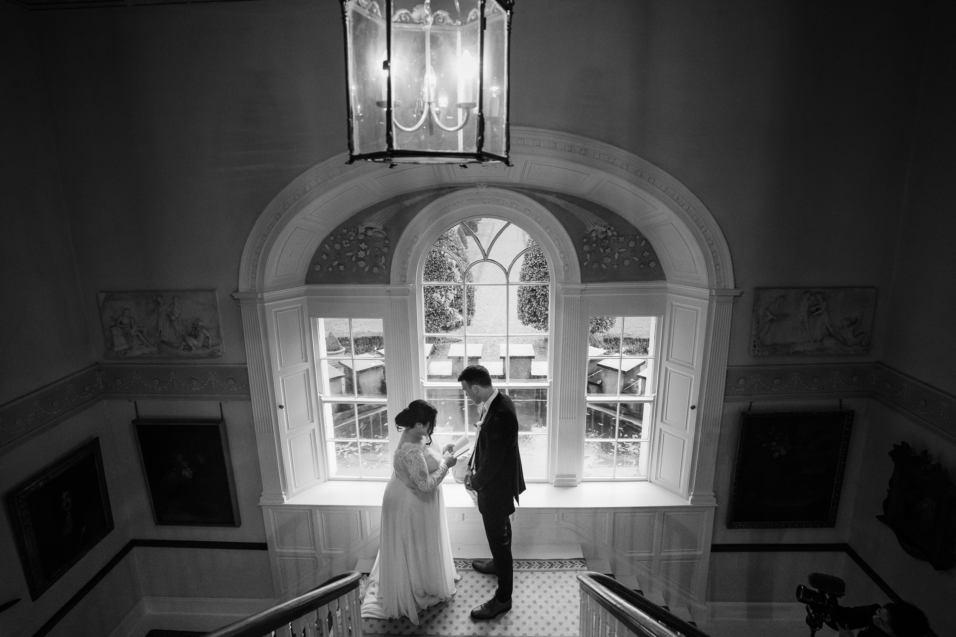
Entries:
{"type": "Polygon", "coordinates": [[[727,527],[836,526],[853,415],[741,414],[727,527]]]}

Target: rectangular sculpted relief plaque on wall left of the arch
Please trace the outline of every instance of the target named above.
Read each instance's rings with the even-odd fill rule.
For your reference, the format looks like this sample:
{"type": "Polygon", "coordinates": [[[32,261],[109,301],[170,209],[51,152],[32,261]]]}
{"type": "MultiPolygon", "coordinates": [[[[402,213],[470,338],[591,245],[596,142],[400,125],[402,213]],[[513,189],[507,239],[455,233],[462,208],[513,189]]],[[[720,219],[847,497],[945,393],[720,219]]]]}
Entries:
{"type": "Polygon", "coordinates": [[[216,290],[100,292],[106,358],[223,355],[216,290]]]}

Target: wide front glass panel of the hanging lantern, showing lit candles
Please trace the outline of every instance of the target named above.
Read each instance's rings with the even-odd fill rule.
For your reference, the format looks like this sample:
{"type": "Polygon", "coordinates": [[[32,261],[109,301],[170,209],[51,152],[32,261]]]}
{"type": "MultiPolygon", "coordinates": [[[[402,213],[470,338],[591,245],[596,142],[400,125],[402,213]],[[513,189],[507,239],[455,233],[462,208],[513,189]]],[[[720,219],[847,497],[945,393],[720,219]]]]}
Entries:
{"type": "Polygon", "coordinates": [[[479,2],[434,0],[427,7],[430,14],[422,0],[393,2],[395,149],[476,153],[479,2]]]}

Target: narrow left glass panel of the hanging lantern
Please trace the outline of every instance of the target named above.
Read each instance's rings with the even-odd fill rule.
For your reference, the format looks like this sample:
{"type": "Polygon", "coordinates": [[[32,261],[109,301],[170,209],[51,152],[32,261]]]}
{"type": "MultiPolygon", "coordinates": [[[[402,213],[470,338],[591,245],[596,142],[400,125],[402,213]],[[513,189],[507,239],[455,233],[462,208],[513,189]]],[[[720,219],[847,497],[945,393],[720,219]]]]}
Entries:
{"type": "Polygon", "coordinates": [[[356,155],[387,149],[383,107],[388,74],[382,70],[387,33],[383,7],[384,0],[348,0],[344,5],[352,146],[356,155]]]}

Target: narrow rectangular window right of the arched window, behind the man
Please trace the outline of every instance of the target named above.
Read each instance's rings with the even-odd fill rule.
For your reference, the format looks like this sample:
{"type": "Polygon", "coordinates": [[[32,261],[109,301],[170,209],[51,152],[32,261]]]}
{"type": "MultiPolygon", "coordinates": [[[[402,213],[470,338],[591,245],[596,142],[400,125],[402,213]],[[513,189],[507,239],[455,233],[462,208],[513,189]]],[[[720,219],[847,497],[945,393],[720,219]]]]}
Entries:
{"type": "Polygon", "coordinates": [[[652,316],[591,317],[585,479],[647,477],[656,322],[652,316]]]}

